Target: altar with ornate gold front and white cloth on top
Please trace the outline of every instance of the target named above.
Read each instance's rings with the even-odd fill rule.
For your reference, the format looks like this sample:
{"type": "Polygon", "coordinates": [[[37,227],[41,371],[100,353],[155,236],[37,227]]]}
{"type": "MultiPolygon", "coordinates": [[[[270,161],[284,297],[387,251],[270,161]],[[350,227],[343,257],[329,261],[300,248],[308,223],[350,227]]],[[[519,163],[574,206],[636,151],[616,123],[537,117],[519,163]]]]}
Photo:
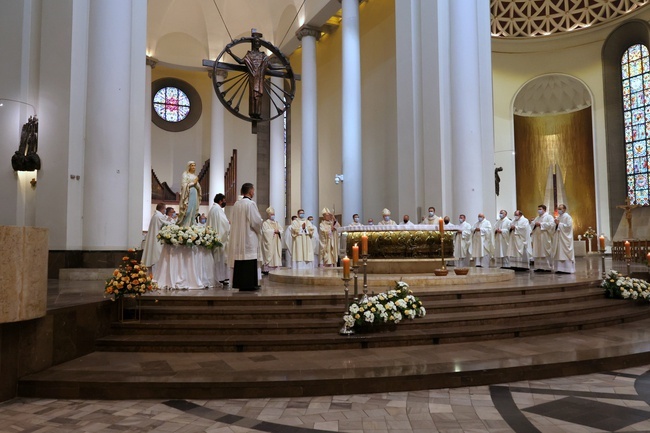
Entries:
{"type": "Polygon", "coordinates": [[[441,259],[441,236],[444,239],[444,257],[454,255],[456,226],[440,232],[437,225],[345,226],[340,227],[341,246],[352,257],[352,246],[361,245],[361,236],[368,236],[368,255],[372,259],[441,259]]]}

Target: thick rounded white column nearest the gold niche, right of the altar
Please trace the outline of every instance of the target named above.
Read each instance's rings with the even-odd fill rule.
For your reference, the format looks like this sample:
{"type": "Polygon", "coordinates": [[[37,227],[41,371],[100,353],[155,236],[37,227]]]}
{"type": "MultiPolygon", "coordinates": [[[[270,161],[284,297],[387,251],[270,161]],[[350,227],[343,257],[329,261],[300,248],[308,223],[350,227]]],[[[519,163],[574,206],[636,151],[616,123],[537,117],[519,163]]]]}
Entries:
{"type": "Polygon", "coordinates": [[[494,138],[489,27],[483,25],[489,7],[475,0],[448,0],[450,15],[450,92],[452,185],[454,209],[476,221],[479,212],[494,218],[494,138]],[[490,81],[491,83],[491,81],[490,81]],[[491,86],[491,84],[490,84],[491,86]],[[487,113],[487,114],[485,114],[487,113]]]}

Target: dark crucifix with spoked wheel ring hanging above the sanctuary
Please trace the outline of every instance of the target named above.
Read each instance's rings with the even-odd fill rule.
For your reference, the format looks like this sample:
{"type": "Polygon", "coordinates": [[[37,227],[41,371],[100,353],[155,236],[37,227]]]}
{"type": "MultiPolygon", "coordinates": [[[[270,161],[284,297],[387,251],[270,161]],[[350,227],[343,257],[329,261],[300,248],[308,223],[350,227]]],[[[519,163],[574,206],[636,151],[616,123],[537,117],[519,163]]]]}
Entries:
{"type": "Polygon", "coordinates": [[[240,119],[252,122],[253,133],[257,122],[268,122],[281,116],[291,105],[296,90],[296,77],[291,64],[279,48],[262,39],[262,34],[251,30],[250,37],[233,40],[221,51],[216,60],[203,60],[203,66],[212,68],[212,84],[217,98],[228,111],[240,119]],[[245,54],[242,47],[250,44],[245,54]],[[260,51],[266,48],[271,56],[260,51]],[[239,53],[239,54],[238,54],[239,53]],[[276,84],[271,77],[282,79],[276,84]],[[248,113],[242,112],[241,103],[248,100],[248,113]],[[262,101],[269,98],[266,113],[262,101]]]}

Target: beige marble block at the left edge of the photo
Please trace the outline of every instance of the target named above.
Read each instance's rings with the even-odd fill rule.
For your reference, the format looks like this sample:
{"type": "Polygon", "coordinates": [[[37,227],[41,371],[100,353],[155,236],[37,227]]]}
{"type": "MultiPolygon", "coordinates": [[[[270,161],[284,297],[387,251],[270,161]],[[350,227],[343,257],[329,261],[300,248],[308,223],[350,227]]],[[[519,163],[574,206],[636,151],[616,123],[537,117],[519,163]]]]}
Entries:
{"type": "Polygon", "coordinates": [[[45,316],[47,312],[48,231],[0,226],[0,323],[45,316]]]}

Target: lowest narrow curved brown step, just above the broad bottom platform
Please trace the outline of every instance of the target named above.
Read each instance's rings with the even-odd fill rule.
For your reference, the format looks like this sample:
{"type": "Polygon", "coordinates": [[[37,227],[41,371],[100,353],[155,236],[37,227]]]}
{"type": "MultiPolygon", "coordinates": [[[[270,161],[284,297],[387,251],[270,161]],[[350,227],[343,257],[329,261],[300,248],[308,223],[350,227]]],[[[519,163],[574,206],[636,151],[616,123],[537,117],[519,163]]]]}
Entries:
{"type": "MultiPolygon", "coordinates": [[[[111,335],[99,339],[96,348],[110,352],[267,352],[435,345],[613,326],[644,319],[647,313],[647,305],[628,302],[610,310],[543,319],[511,318],[501,324],[438,324],[412,328],[406,325],[409,322],[404,322],[390,332],[357,333],[352,336],[340,336],[334,327],[323,329],[326,332],[321,334],[219,335],[209,332],[198,335],[111,335]]],[[[419,320],[424,319],[411,323],[419,320]]]]}

